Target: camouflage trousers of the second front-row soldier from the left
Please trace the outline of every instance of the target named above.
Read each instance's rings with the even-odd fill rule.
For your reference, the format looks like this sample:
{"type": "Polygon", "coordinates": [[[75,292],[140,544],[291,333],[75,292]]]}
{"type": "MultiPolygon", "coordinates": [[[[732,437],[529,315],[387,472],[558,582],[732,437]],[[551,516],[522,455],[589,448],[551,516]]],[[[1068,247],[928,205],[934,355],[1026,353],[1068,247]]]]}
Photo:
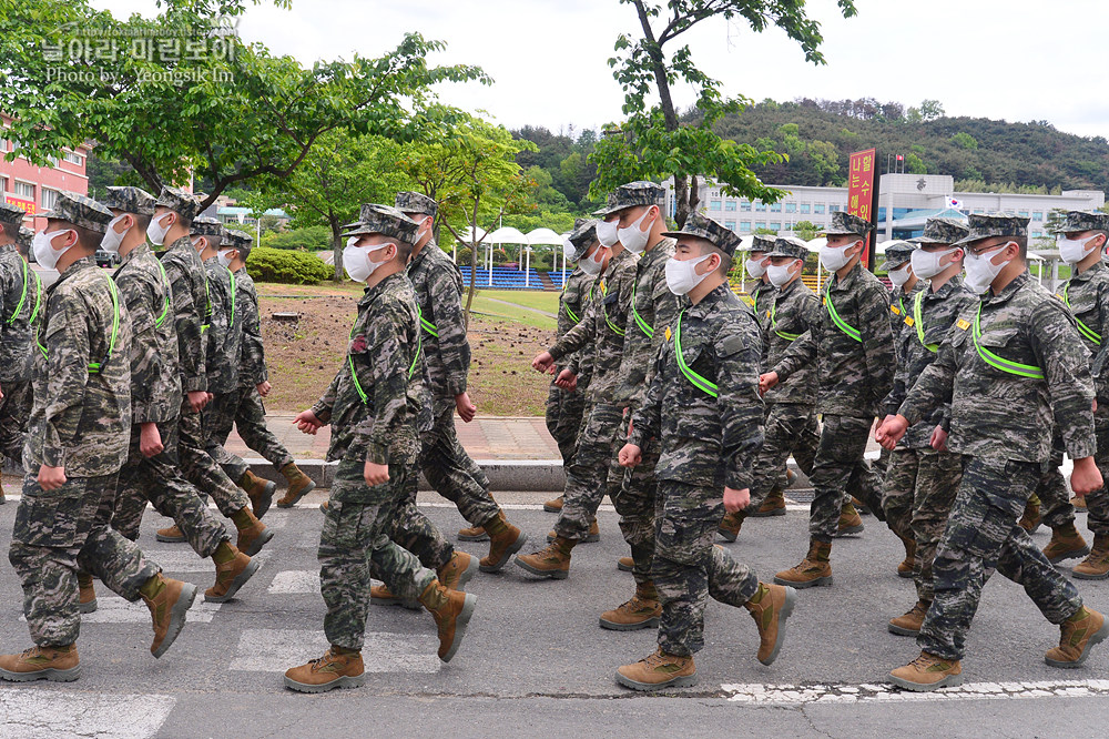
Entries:
{"type": "Polygon", "coordinates": [[[362,649],[369,616],[370,570],[400,598],[416,599],[436,579],[416,555],[389,540],[411,462],[389,465],[389,480],[370,487],[363,477],[364,452],[339,460],[319,534],[319,591],[327,614],[327,641],[362,649]]]}

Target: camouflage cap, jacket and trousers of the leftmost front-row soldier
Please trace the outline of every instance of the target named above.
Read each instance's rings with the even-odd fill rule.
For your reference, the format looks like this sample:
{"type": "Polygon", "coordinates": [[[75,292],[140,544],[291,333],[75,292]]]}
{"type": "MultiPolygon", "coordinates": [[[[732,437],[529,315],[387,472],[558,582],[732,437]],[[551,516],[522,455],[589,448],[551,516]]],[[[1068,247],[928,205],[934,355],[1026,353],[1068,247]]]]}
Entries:
{"type": "MultiPolygon", "coordinates": [[[[47,217],[102,234],[112,214],[63,192],[47,217]]],[[[34,407],[8,559],[22,584],[23,615],[39,646],[77,640],[78,568],[130,601],[160,571],[109,527],[131,429],[131,325],[125,305],[119,304],[116,316],[118,303],[111,279],[87,256],[47,290],[37,325],[34,407]],[[42,489],[41,465],[63,467],[67,482],[42,489]]]]}

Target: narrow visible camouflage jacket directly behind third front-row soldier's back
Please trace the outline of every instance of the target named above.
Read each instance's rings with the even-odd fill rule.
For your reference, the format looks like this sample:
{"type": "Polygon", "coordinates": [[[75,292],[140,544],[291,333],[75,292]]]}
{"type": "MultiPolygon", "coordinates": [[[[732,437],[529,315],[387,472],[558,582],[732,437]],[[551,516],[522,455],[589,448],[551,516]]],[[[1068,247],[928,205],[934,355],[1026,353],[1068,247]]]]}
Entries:
{"type": "Polygon", "coordinates": [[[624,334],[615,393],[620,405],[634,408],[643,403],[654,374],[654,358],[659,356],[659,347],[664,341],[664,328],[678,315],[678,296],[667,285],[667,262],[674,255],[676,245],[673,239],[663,239],[651,251],[643,253],[635,265],[631,316],[624,334]]]}

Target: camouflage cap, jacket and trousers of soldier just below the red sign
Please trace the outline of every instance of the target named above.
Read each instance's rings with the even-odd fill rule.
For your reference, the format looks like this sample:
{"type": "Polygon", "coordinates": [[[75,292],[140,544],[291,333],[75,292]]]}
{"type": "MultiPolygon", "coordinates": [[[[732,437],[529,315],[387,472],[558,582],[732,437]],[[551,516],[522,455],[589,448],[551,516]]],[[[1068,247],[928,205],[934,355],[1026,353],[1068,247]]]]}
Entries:
{"type": "MultiPolygon", "coordinates": [[[[862,233],[867,227],[861,219],[837,212],[828,234],[862,233]]],[[[832,540],[848,490],[883,516],[881,480],[864,453],[897,366],[888,313],[886,288],[862,263],[843,280],[833,274],[821,320],[793,342],[773,370],[784,381],[815,360],[821,378],[816,411],[824,425],[811,476],[815,497],[810,514],[810,535],[816,541],[832,540]],[[858,338],[836,325],[833,308],[858,338]]]]}

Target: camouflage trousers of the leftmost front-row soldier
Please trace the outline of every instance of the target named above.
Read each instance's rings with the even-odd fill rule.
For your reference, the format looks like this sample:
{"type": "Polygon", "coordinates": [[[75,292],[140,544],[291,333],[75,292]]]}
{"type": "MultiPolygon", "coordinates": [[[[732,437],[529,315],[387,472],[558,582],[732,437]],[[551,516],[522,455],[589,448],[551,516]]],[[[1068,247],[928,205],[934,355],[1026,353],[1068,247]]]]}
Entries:
{"type": "Polygon", "coordinates": [[[116,476],[71,477],[55,490],[39,487],[38,469],[23,477],[8,560],[23,586],[23,616],[39,646],[77,641],[81,630],[78,570],[90,573],[134,603],[161,571],[109,526],[116,476]]]}

